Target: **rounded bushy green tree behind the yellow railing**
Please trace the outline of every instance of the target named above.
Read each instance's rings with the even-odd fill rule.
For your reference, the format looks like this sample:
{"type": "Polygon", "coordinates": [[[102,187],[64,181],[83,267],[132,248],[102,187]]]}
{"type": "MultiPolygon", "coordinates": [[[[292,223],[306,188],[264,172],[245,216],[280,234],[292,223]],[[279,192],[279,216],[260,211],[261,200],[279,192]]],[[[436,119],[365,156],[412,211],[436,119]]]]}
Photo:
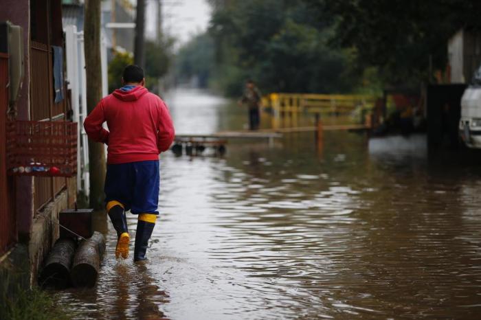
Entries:
{"type": "Polygon", "coordinates": [[[346,56],[325,45],[325,32],[287,19],[254,62],[256,78],[269,91],[343,92],[350,90],[346,56]]]}

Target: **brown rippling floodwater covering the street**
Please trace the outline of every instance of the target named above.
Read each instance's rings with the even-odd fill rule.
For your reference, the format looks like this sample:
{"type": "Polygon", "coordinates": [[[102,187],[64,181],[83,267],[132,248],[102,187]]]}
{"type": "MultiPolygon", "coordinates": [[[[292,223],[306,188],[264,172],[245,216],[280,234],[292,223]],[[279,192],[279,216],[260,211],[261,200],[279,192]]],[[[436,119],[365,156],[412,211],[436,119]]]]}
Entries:
{"type": "MultiPolygon", "coordinates": [[[[245,125],[243,109],[201,91],[166,100],[178,133],[245,125]]],[[[58,300],[79,319],[481,318],[476,153],[344,132],[320,147],[302,133],[211,153],[161,156],[146,264],[115,260],[98,215],[109,229],[98,285],[58,300]]]]}

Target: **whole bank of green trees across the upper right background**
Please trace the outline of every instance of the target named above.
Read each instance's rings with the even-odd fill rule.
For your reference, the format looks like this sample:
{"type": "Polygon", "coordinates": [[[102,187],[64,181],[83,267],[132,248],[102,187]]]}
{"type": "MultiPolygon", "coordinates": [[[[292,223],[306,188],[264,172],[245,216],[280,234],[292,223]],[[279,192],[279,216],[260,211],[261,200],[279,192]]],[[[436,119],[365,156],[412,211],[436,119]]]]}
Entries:
{"type": "MultiPolygon", "coordinates": [[[[481,1],[210,0],[209,34],[227,94],[253,78],[264,92],[380,93],[432,79],[447,41],[481,30],[481,1]]],[[[238,89],[236,89],[238,88],[238,89]]]]}

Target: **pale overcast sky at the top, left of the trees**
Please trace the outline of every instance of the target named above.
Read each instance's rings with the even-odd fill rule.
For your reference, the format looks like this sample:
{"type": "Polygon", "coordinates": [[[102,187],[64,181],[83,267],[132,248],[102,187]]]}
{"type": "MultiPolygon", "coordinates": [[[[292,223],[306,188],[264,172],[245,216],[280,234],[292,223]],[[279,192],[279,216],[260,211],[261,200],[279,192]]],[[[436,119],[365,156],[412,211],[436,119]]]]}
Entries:
{"type": "MultiPolygon", "coordinates": [[[[155,28],[156,10],[149,10],[150,1],[146,0],[147,25],[146,34],[153,32],[155,28]],[[151,18],[151,19],[149,19],[151,18]],[[152,23],[150,23],[152,21],[152,23]]],[[[161,0],[162,16],[164,21],[162,27],[166,34],[177,38],[177,45],[186,43],[193,35],[205,31],[210,20],[210,6],[207,0],[161,0]]],[[[153,8],[153,7],[150,7],[153,8]]]]}

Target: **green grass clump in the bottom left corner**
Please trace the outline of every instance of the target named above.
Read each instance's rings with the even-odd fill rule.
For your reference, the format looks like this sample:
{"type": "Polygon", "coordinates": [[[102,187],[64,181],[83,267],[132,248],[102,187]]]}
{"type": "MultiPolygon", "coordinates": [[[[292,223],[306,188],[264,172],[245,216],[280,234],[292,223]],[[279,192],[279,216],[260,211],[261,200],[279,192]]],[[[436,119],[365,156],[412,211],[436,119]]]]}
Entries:
{"type": "Polygon", "coordinates": [[[14,297],[5,291],[1,293],[0,319],[9,320],[68,320],[70,310],[65,310],[51,295],[39,288],[16,290],[14,297]]]}

